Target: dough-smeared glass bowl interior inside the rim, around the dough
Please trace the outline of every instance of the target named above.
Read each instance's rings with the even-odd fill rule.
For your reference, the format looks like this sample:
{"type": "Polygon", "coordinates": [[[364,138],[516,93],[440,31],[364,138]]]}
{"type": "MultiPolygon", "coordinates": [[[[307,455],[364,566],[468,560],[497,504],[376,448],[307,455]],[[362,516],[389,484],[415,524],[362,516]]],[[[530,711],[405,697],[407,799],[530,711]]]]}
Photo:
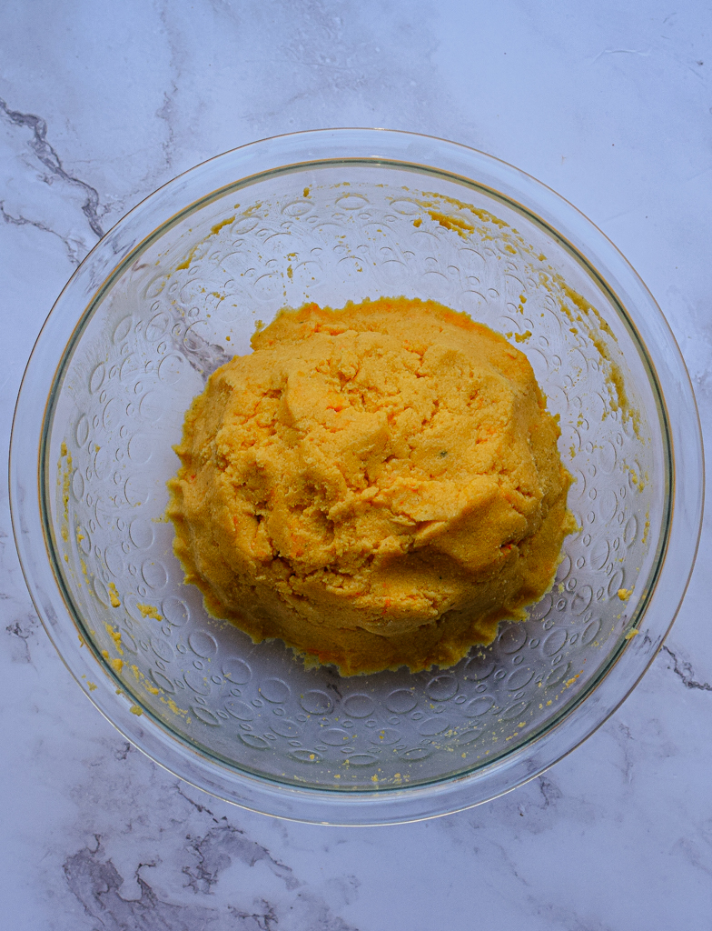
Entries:
{"type": "Polygon", "coordinates": [[[556,726],[625,649],[669,520],[661,410],[625,310],[526,209],[435,170],[299,165],[191,204],[97,292],[46,413],[47,546],[106,675],[186,747],[283,785],[431,783],[556,726]],[[204,612],[172,553],[165,481],[191,398],[249,352],[258,320],[400,294],[467,311],[527,355],[560,415],[580,531],[551,593],[490,647],[344,679],[204,612]]]}

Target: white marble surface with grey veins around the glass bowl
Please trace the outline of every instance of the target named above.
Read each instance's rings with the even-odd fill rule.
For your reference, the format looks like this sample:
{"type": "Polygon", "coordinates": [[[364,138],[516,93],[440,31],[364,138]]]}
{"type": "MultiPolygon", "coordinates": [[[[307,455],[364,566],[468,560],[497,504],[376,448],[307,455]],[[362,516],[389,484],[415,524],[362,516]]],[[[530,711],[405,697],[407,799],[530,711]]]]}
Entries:
{"type": "MultiPolygon", "coordinates": [[[[712,436],[712,11],[702,2],[7,0],[0,32],[3,455],[33,340],[126,209],[204,158],[385,126],[497,155],[568,197],[653,290],[712,436]]],[[[636,692],[493,803],[347,830],[180,784],[86,701],[0,513],[0,912],[13,931],[712,928],[705,524],[636,692]]]]}

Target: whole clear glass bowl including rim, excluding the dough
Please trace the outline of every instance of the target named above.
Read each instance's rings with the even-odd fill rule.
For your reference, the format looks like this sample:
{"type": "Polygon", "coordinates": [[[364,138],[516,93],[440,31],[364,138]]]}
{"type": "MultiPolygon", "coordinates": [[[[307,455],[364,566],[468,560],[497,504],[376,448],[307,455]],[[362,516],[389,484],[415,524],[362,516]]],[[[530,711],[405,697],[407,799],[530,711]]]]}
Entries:
{"type": "Polygon", "coordinates": [[[378,824],[512,789],[623,701],[692,571],[702,446],[664,317],[581,213],[452,142],[337,129],[219,155],[104,236],[34,347],[10,492],[38,614],[129,740],[247,808],[378,824]],[[526,353],[560,417],[579,531],[550,594],[491,646],[455,668],[340,678],[204,612],[165,482],[191,398],[250,351],[257,321],[401,294],[526,353]]]}

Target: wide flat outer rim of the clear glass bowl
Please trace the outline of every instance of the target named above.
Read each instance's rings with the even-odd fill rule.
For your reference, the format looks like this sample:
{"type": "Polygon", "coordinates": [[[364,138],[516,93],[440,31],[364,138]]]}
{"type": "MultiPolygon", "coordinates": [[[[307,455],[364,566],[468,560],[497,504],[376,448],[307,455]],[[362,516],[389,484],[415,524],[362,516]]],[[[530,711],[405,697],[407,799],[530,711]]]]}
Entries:
{"type": "Polygon", "coordinates": [[[483,803],[540,775],[605,722],[653,662],[679,610],[699,545],[704,482],[699,414],[678,344],[653,295],[613,242],[547,185],[492,155],[436,137],[373,128],[310,130],[249,142],[178,175],[126,213],[77,267],[46,318],[20,385],[9,457],[13,533],[35,609],[63,662],[107,720],[154,762],[219,798],[274,816],[343,825],[419,820],[483,803]],[[59,360],[67,358],[68,347],[78,339],[96,295],[108,287],[116,267],[125,265],[127,257],[144,249],[147,240],[177,217],[218,196],[225,186],[245,184],[274,171],[311,167],[315,162],[386,162],[474,181],[551,227],[596,271],[621,307],[639,309],[630,323],[652,362],[653,385],[659,387],[662,405],[659,413],[669,435],[670,523],[657,584],[639,621],[641,625],[646,622],[643,636],[627,641],[580,701],[531,743],[475,772],[380,792],[296,788],[237,772],[181,742],[148,715],[137,715],[136,706],[117,701],[116,681],[111,675],[97,676],[98,664],[107,671],[98,655],[77,646],[71,612],[51,558],[45,558],[50,557],[49,550],[36,543],[42,536],[47,547],[38,492],[43,487],[47,413],[59,371],[56,347],[60,347],[59,360]],[[199,191],[203,191],[201,196],[185,203],[186,197],[199,191]],[[178,211],[177,203],[183,205],[178,211]],[[63,313],[67,306],[74,308],[73,318],[63,313]],[[82,308],[78,319],[77,306],[82,308]],[[46,398],[46,403],[38,404],[37,398],[46,398]],[[676,471],[676,459],[684,461],[684,479],[676,471]],[[618,670],[614,676],[613,669],[618,670]]]}

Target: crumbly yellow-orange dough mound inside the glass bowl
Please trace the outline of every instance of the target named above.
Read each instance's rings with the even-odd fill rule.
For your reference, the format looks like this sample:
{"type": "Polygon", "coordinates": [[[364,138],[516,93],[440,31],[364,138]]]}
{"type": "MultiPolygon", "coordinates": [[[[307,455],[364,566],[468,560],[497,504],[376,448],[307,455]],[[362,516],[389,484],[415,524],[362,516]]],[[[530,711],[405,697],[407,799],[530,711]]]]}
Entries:
{"type": "Polygon", "coordinates": [[[343,675],[452,666],[551,587],[571,477],[527,358],[441,304],[284,311],[168,483],[207,610],[343,675]]]}

